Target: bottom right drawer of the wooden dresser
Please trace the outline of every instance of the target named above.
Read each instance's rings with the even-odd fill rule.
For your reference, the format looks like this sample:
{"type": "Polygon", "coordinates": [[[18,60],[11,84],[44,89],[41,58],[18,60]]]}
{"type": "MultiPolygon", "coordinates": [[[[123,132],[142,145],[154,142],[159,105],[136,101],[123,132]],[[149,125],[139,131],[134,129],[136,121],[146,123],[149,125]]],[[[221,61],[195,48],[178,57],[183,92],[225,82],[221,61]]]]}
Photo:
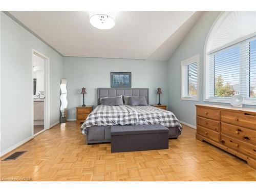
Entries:
{"type": "Polygon", "coordinates": [[[221,143],[238,152],[256,158],[256,146],[221,134],[221,143]]]}

